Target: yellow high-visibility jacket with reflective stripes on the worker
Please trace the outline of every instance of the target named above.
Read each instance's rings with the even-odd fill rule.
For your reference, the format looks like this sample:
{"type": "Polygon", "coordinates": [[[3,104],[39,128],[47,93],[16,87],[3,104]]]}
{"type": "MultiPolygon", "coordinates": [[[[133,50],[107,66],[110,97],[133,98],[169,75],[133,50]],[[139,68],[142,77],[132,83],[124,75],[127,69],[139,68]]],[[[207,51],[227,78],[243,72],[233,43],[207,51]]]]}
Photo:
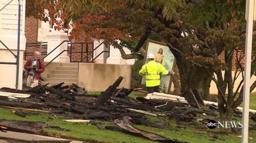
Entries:
{"type": "Polygon", "coordinates": [[[166,68],[154,60],[151,60],[147,64],[144,64],[139,71],[139,75],[146,75],[146,86],[158,86],[160,85],[160,74],[168,75],[166,68]]]}

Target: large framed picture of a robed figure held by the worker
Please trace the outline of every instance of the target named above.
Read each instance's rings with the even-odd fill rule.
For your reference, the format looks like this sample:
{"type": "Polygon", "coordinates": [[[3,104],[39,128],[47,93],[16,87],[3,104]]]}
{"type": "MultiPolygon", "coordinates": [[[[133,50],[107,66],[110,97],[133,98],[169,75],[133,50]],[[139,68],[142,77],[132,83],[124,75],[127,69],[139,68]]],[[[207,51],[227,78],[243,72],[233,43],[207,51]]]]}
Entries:
{"type": "MultiPolygon", "coordinates": [[[[163,64],[163,66],[166,67],[166,70],[172,71],[175,58],[174,54],[172,54],[171,50],[166,44],[163,42],[148,40],[146,46],[146,56],[144,56],[144,64],[148,63],[147,55],[150,53],[155,55],[155,60],[159,60],[158,62],[163,64]],[[158,54],[160,49],[162,49],[162,55],[158,54]]],[[[168,93],[168,90],[170,90],[170,78],[171,76],[161,76],[160,90],[162,90],[163,93],[168,93]]],[[[146,84],[145,76],[142,77],[141,84],[146,84]]]]}

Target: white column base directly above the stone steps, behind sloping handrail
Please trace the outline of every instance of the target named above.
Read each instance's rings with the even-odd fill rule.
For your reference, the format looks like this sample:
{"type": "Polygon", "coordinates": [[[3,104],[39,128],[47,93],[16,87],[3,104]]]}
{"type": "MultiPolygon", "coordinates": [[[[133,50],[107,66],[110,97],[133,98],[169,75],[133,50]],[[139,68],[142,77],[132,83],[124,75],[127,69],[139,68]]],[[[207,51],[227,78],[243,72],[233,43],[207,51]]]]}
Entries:
{"type": "MultiPolygon", "coordinates": [[[[59,31],[52,31],[47,33],[46,35],[46,41],[48,42],[47,46],[47,54],[50,53],[55,47],[61,44],[61,42],[68,40],[68,34],[65,32],[59,32],[59,31]]],[[[64,42],[59,47],[57,47],[56,50],[52,51],[51,54],[49,54],[44,61],[49,62],[53,58],[55,58],[58,54],[60,54],[63,50],[68,50],[68,42],[64,42]]],[[[67,63],[70,62],[70,58],[67,55],[67,51],[65,51],[63,54],[59,55],[53,62],[61,62],[61,63],[67,63]]]]}

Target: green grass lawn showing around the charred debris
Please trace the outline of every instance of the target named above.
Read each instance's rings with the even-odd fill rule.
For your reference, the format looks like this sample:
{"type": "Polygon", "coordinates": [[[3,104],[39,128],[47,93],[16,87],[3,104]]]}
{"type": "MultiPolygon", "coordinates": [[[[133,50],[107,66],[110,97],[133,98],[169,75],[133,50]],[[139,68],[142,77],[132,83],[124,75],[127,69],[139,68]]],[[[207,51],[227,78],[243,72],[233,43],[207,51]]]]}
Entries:
{"type": "MultiPolygon", "coordinates": [[[[100,94],[100,92],[89,92],[89,94],[100,94]]],[[[145,94],[139,93],[139,92],[133,92],[130,94],[130,97],[138,97],[138,96],[144,96],[145,94]]],[[[255,95],[251,96],[250,102],[254,103],[251,106],[255,106],[256,98],[255,95]]],[[[129,135],[127,133],[117,132],[117,131],[109,131],[109,130],[100,130],[96,126],[92,124],[80,124],[80,123],[69,123],[64,122],[62,119],[63,117],[58,116],[55,118],[55,116],[51,114],[32,114],[34,112],[28,112],[31,113],[30,115],[26,116],[26,118],[22,118],[20,116],[15,115],[11,110],[2,109],[0,108],[0,119],[10,119],[10,120],[26,120],[26,121],[40,121],[40,122],[46,122],[49,125],[55,125],[59,126],[60,128],[69,129],[68,131],[59,131],[54,128],[44,128],[44,131],[48,133],[48,135],[51,136],[68,136],[70,138],[79,139],[83,141],[100,141],[100,142],[154,142],[151,140],[148,140],[144,137],[138,137],[134,135],[129,135]],[[51,118],[49,118],[51,117],[51,118]],[[53,119],[52,119],[53,118],[53,119]]],[[[199,115],[197,118],[213,118],[211,116],[203,116],[199,115]]],[[[160,120],[163,120],[162,117],[152,117],[148,116],[148,120],[157,122],[160,120]]],[[[239,118],[237,118],[239,120],[239,118]]],[[[136,125],[137,128],[157,133],[158,135],[162,135],[168,138],[177,139],[180,141],[187,141],[187,142],[241,142],[241,138],[237,137],[238,135],[241,135],[241,133],[238,133],[238,135],[232,135],[232,134],[222,134],[218,133],[217,129],[208,129],[206,127],[206,124],[198,123],[196,126],[204,127],[203,129],[195,128],[194,125],[176,125],[175,119],[164,119],[168,122],[168,129],[159,129],[154,127],[148,127],[144,125],[136,125]],[[213,138],[213,137],[219,137],[219,138],[213,138]]],[[[102,126],[105,127],[105,125],[112,125],[111,122],[105,122],[103,120],[97,120],[97,122],[101,122],[102,126]]],[[[253,120],[250,120],[250,123],[254,122],[253,120]]],[[[249,137],[253,137],[253,139],[249,139],[249,142],[256,142],[256,131],[252,130],[249,131],[249,137]]]]}

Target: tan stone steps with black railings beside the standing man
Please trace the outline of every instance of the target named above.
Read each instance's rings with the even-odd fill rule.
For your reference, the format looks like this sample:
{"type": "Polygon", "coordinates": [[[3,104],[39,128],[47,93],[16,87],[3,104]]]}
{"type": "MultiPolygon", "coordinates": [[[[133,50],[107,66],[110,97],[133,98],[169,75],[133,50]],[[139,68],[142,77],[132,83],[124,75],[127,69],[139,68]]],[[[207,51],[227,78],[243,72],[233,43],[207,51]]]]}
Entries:
{"type": "Polygon", "coordinates": [[[48,86],[59,84],[64,82],[63,85],[77,84],[78,77],[78,63],[61,63],[61,66],[57,66],[57,70],[53,70],[51,74],[42,81],[42,85],[48,84],[48,86]]]}

